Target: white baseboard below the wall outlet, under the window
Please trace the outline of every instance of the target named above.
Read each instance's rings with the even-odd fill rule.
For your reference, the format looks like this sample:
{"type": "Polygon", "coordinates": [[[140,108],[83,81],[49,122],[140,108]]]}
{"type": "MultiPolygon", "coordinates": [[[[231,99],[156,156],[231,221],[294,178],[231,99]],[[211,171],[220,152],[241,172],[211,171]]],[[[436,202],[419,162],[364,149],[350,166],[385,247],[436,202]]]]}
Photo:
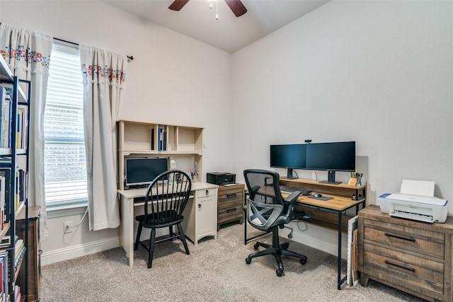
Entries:
{"type": "Polygon", "coordinates": [[[72,245],[69,248],[60,248],[50,252],[42,252],[41,265],[51,265],[52,263],[61,262],[77,257],[82,257],[103,250],[110,250],[120,246],[120,238],[112,237],[103,240],[96,240],[86,244],[72,245]]]}

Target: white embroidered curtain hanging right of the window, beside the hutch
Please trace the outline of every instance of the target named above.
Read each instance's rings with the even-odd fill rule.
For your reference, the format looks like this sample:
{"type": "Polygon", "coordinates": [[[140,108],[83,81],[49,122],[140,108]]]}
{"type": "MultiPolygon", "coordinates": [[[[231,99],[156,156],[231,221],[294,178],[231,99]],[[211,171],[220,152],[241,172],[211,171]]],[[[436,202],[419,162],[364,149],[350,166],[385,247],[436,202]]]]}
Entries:
{"type": "Polygon", "coordinates": [[[117,202],[116,120],[125,58],[80,46],[84,75],[84,127],[91,231],[120,226],[117,202]]]}

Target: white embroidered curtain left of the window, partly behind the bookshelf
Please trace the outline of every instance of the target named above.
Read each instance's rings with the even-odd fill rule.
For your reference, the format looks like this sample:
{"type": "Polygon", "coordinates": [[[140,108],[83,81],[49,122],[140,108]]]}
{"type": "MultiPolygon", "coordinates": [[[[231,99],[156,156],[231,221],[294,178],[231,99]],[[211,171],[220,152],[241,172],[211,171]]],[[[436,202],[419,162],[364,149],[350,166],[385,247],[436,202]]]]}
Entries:
{"type": "MultiPolygon", "coordinates": [[[[52,38],[33,30],[0,25],[0,53],[18,79],[31,81],[30,106],[30,205],[41,207],[40,236],[47,237],[47,214],[44,191],[44,110],[49,79],[52,38]]],[[[23,88],[26,88],[23,85],[23,88]]],[[[24,90],[26,93],[26,90],[24,90]]]]}

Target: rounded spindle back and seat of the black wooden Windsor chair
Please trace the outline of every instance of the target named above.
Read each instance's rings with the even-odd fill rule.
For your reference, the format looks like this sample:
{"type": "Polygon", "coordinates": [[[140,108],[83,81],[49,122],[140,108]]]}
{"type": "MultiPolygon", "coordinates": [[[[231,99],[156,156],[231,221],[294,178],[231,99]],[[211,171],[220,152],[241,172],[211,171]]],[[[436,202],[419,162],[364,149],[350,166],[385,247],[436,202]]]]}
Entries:
{"type": "Polygon", "coordinates": [[[147,190],[144,204],[145,223],[161,225],[182,221],[190,190],[192,182],[183,171],[170,170],[161,173],[147,190]]]}

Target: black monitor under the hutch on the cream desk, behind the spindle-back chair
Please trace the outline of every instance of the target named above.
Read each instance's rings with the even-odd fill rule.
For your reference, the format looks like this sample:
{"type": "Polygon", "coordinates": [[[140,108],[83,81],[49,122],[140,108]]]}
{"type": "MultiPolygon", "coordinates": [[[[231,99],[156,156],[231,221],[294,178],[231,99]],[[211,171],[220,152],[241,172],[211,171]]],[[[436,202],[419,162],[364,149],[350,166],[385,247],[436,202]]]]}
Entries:
{"type": "Polygon", "coordinates": [[[168,158],[126,158],[126,185],[148,185],[168,170],[168,158]]]}

